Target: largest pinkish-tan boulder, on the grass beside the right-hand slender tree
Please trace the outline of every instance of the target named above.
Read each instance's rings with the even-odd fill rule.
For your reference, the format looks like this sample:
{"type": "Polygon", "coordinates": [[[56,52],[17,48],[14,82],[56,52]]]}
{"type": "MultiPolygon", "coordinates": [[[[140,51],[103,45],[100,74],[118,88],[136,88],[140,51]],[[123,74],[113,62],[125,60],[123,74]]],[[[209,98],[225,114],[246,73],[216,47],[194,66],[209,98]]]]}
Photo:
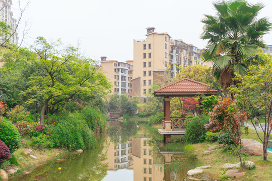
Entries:
{"type": "Polygon", "coordinates": [[[252,139],[242,139],[242,151],[252,155],[263,155],[262,144],[252,139]]]}

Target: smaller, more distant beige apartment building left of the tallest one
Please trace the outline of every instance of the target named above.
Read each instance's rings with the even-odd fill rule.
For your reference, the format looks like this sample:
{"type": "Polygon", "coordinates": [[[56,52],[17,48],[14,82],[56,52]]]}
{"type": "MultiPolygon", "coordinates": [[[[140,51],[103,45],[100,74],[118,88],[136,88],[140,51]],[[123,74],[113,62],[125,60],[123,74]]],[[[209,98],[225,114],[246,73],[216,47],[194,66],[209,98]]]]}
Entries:
{"type": "Polygon", "coordinates": [[[101,68],[113,85],[111,94],[124,94],[131,98],[133,65],[129,63],[133,63],[133,60],[127,60],[128,63],[125,63],[117,60],[107,60],[106,56],[100,58],[101,68]]]}

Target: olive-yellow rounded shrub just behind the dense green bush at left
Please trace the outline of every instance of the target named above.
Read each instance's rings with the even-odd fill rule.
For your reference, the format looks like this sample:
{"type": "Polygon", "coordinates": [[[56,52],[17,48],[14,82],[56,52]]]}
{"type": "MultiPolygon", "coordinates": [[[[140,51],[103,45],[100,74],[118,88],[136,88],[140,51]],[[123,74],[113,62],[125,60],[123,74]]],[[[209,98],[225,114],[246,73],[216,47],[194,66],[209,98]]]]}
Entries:
{"type": "Polygon", "coordinates": [[[25,121],[25,118],[29,117],[30,113],[23,106],[17,105],[7,112],[7,116],[13,123],[17,123],[18,121],[25,121]]]}

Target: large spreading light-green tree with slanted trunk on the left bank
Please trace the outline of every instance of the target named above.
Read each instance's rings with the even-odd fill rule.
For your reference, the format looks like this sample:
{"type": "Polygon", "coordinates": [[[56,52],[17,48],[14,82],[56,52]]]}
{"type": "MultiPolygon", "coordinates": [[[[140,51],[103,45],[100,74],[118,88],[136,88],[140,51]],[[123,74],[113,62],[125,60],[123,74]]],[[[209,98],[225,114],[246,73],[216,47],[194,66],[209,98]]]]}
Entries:
{"type": "Polygon", "coordinates": [[[45,74],[29,77],[29,88],[23,94],[30,95],[28,105],[42,99],[41,123],[46,112],[53,114],[81,97],[103,96],[111,86],[94,60],[80,57],[74,47],[62,47],[60,40],[48,43],[38,37],[32,48],[45,74]]]}

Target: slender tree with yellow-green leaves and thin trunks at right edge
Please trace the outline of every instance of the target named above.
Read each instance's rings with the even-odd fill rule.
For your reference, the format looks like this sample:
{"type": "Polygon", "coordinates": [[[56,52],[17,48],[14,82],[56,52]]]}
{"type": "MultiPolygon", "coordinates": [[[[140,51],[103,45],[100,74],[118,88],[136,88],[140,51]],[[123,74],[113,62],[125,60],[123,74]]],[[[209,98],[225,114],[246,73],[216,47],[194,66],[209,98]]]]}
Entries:
{"type": "Polygon", "coordinates": [[[244,77],[237,75],[236,86],[232,86],[230,91],[234,94],[235,103],[244,108],[249,116],[256,134],[263,144],[263,160],[267,160],[267,144],[272,130],[272,62],[267,62],[264,66],[252,66],[248,68],[248,74],[244,77]],[[258,113],[264,114],[264,127],[260,124],[263,137],[257,132],[253,124],[254,117],[258,113]]]}

